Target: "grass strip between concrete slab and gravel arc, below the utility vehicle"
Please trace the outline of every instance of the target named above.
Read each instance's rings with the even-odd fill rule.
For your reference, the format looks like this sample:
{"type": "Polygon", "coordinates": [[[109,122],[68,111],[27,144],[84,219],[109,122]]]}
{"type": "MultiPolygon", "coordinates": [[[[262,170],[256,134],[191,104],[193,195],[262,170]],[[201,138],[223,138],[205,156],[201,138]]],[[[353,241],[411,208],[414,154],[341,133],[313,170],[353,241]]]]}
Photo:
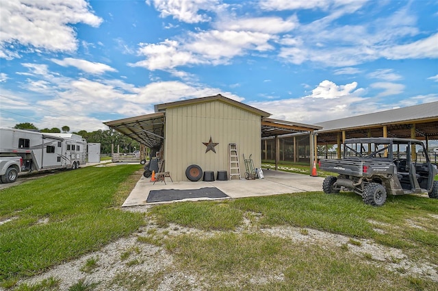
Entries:
{"type": "Polygon", "coordinates": [[[352,238],[369,238],[438,264],[438,199],[389,197],[382,207],[372,207],[365,205],[354,193],[327,195],[308,192],[220,203],[175,203],[159,205],[151,210],[157,221],[205,231],[237,229],[247,213],[259,214],[257,224],[260,227],[290,225],[352,238]],[[195,219],[188,220],[188,217],[196,217],[196,223],[195,219]],[[421,228],[409,225],[408,220],[415,221],[421,228]],[[211,227],[212,224],[214,227],[211,227]]]}

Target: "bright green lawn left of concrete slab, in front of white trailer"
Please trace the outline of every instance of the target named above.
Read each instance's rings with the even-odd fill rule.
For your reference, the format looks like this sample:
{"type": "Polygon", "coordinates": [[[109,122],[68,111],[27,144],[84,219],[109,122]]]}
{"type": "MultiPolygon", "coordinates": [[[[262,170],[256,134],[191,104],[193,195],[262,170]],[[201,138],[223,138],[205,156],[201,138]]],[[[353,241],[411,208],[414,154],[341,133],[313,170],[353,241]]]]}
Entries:
{"type": "Polygon", "coordinates": [[[1,190],[0,221],[12,221],[0,225],[0,281],[35,275],[138,229],[142,215],[115,206],[139,168],[80,168],[1,190]]]}

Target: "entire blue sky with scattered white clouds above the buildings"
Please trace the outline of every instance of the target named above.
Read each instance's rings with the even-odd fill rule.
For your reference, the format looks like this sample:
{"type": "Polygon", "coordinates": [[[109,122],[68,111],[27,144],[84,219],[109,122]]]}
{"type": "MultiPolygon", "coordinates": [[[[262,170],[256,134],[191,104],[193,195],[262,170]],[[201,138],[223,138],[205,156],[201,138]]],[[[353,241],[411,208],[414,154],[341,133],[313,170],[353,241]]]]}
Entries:
{"type": "Polygon", "coordinates": [[[438,101],[438,2],[1,0],[0,62],[2,126],[218,93],[313,124],[438,101]]]}

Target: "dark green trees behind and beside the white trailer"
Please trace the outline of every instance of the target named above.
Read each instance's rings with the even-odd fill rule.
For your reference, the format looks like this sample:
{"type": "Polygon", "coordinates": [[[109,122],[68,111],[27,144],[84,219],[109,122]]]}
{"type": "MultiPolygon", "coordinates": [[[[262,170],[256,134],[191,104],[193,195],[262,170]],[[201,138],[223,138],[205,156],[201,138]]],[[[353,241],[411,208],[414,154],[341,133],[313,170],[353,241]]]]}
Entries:
{"type": "MultiPolygon", "coordinates": [[[[27,129],[39,132],[48,132],[48,133],[68,133],[70,131],[70,127],[64,125],[61,129],[57,127],[53,127],[51,129],[44,128],[38,129],[33,123],[18,123],[14,126],[15,129],[27,129]]],[[[77,132],[71,132],[71,134],[78,134],[82,136],[87,142],[96,142],[101,144],[101,154],[110,154],[111,153],[111,145],[114,144],[114,151],[117,151],[117,146],[120,149],[120,153],[129,153],[135,151],[136,149],[140,149],[140,143],[128,136],[120,134],[114,129],[107,130],[96,130],[88,132],[86,130],[79,130],[77,132]]]]}

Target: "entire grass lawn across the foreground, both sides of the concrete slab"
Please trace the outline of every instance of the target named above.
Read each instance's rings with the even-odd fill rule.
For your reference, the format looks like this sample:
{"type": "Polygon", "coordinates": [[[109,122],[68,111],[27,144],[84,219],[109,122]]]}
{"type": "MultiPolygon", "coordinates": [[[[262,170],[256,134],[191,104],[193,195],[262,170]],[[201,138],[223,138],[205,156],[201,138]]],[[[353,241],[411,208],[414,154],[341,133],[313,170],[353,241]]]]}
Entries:
{"type": "MultiPolygon", "coordinates": [[[[349,192],[309,192],[120,210],[141,172],[141,165],[80,168],[1,190],[0,286],[57,290],[55,278],[15,284],[135,233],[170,255],[172,267],[133,266],[110,283],[81,279],[69,290],[156,290],[178,274],[196,279],[175,290],[438,290],[430,279],[438,272],[438,199],[388,197],[371,207],[349,192]],[[328,239],[313,240],[316,232],[328,239]],[[398,255],[357,251],[365,244],[398,255]],[[431,269],[411,272],[424,263],[431,269]]],[[[87,263],[92,272],[96,262],[87,263]]]]}

